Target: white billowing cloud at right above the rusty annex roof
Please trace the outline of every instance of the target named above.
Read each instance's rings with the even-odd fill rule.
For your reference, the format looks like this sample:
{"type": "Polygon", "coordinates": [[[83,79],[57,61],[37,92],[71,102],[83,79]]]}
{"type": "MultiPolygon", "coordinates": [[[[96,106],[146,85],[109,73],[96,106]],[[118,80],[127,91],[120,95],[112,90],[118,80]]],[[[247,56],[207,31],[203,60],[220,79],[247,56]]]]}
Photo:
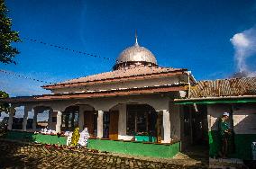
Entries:
{"type": "Polygon", "coordinates": [[[247,58],[256,55],[256,28],[242,31],[233,35],[231,39],[235,50],[234,58],[237,62],[237,68],[240,72],[248,72],[248,76],[255,76],[246,63],[247,58]]]}

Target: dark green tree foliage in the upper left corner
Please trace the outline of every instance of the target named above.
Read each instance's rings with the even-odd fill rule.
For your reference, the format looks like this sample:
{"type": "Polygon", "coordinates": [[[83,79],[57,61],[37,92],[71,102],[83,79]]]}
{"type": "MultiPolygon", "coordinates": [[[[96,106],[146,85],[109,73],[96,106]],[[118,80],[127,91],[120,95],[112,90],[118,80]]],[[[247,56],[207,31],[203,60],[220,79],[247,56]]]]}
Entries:
{"type": "Polygon", "coordinates": [[[5,0],[0,0],[0,62],[16,64],[14,57],[19,51],[11,43],[21,40],[18,32],[12,30],[12,20],[8,18],[7,12],[5,0]]]}

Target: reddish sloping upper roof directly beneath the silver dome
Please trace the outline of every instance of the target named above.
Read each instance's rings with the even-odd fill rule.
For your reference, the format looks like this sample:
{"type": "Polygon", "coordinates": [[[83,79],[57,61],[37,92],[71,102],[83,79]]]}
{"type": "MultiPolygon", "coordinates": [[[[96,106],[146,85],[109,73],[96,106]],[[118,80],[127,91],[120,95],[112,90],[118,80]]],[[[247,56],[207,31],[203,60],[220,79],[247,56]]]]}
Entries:
{"type": "Polygon", "coordinates": [[[79,85],[79,84],[95,84],[103,82],[121,81],[128,79],[139,79],[151,78],[153,75],[160,75],[168,73],[176,73],[187,71],[187,69],[182,68],[167,68],[167,67],[133,67],[127,69],[118,69],[111,72],[105,72],[101,74],[96,74],[93,76],[85,76],[76,79],[71,79],[69,81],[61,82],[58,84],[45,85],[42,86],[45,89],[59,88],[69,85],[79,85]]]}

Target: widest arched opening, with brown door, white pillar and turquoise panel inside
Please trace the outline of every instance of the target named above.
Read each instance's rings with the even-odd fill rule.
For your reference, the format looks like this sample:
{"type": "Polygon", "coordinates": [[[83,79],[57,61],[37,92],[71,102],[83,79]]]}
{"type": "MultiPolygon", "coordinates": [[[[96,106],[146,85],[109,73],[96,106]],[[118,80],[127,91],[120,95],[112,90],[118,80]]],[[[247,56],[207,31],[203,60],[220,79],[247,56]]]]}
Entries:
{"type": "Polygon", "coordinates": [[[149,104],[122,103],[104,112],[103,138],[160,142],[162,115],[149,104]]]}

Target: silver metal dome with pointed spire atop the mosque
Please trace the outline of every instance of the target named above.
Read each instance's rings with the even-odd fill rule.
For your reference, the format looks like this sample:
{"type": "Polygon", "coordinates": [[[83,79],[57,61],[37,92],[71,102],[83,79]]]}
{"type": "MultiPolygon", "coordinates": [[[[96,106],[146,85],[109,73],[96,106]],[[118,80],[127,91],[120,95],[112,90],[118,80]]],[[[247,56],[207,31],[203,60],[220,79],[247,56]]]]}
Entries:
{"type": "Polygon", "coordinates": [[[137,37],[132,47],[124,49],[116,59],[114,69],[130,65],[151,65],[156,66],[157,60],[149,49],[139,46],[137,37]]]}

